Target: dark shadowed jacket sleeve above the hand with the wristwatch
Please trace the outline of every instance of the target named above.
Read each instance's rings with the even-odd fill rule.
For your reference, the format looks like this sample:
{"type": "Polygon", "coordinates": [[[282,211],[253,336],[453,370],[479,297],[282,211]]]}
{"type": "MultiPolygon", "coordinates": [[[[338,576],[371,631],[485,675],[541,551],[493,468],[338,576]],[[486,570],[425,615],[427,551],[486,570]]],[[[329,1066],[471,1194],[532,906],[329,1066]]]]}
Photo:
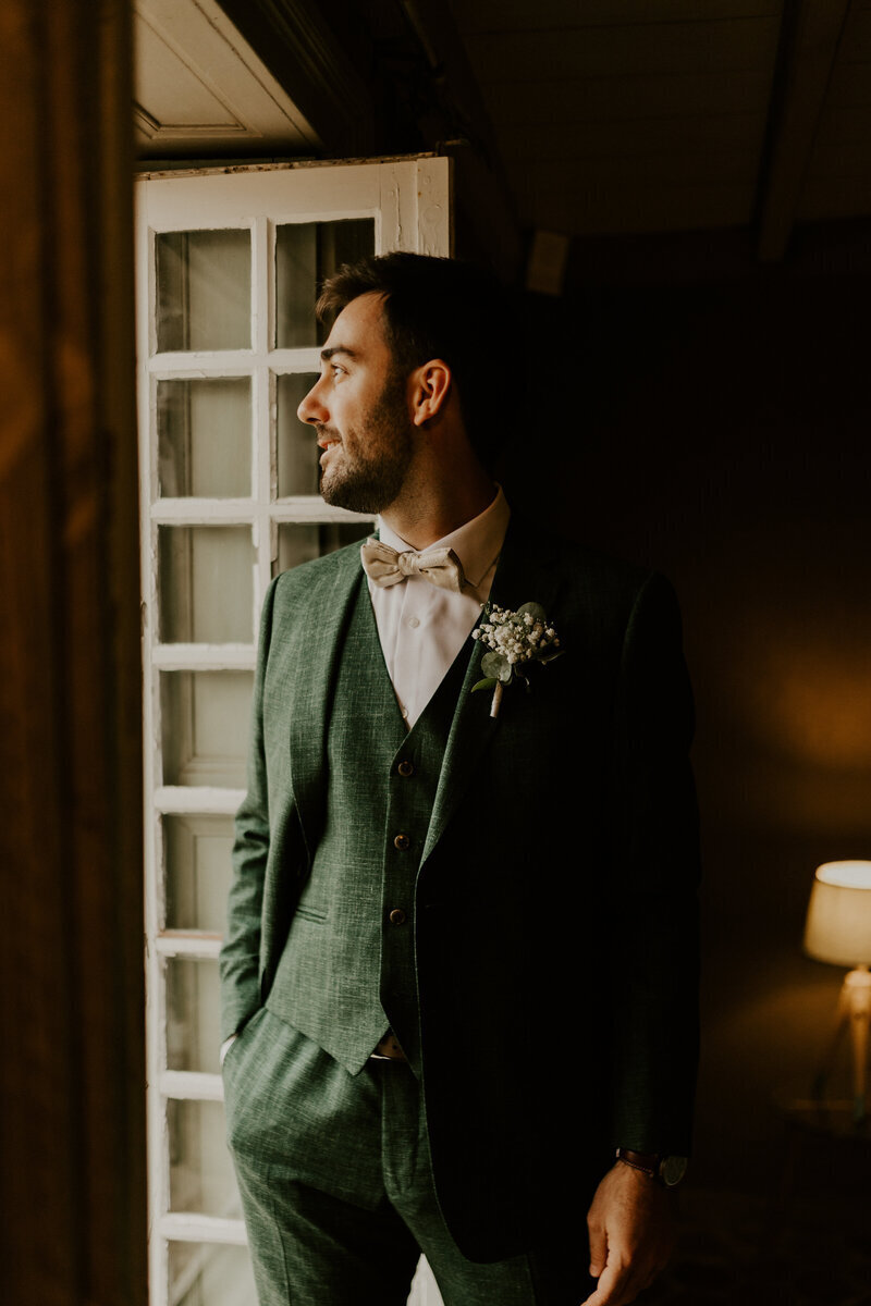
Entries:
{"type": "Polygon", "coordinates": [[[680,614],[661,576],[627,624],[612,774],[612,1143],[687,1156],[699,1020],[699,821],[680,614]]]}

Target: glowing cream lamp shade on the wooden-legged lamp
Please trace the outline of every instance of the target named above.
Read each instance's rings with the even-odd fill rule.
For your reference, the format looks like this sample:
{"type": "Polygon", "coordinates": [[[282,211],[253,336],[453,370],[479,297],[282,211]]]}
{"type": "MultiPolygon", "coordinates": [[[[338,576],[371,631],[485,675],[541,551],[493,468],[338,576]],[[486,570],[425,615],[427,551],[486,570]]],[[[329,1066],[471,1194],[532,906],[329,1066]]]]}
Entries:
{"type": "Polygon", "coordinates": [[[827,862],[817,867],[804,951],[833,965],[871,963],[871,862],[827,862]]]}

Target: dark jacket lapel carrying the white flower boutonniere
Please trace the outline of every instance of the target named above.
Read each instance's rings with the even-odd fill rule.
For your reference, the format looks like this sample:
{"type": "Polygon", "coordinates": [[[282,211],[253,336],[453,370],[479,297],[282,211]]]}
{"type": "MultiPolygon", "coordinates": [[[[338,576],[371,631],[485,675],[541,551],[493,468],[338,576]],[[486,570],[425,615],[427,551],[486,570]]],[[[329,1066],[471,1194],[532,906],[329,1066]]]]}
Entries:
{"type": "MultiPolygon", "coordinates": [[[[522,522],[516,522],[512,517],[494,576],[490,601],[499,607],[515,610],[521,603],[541,603],[551,616],[559,588],[555,559],[530,545],[531,539],[534,528],[525,529],[522,522]]],[[[457,803],[474,782],[475,771],[501,725],[501,714],[511,712],[511,695],[521,692],[516,687],[508,690],[503,697],[500,714],[491,717],[492,695],[486,690],[471,692],[473,684],[482,679],[481,660],[484,653],[478,640],[471,643],[469,666],[448,735],[430,828],[423,845],[422,865],[444,833],[457,803]]]]}

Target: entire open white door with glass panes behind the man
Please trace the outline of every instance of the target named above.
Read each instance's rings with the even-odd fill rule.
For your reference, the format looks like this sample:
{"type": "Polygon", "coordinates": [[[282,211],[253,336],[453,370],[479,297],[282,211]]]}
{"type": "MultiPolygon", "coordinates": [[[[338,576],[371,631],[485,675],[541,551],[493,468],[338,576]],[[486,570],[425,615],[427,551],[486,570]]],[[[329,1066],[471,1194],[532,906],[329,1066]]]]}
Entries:
{"type": "Polygon", "coordinates": [[[448,255],[449,210],[449,163],[432,157],[137,183],[153,1306],[256,1303],[217,959],[259,611],[278,571],[372,529],[323,502],[296,418],[319,371],[317,290],[366,253],[448,255]]]}

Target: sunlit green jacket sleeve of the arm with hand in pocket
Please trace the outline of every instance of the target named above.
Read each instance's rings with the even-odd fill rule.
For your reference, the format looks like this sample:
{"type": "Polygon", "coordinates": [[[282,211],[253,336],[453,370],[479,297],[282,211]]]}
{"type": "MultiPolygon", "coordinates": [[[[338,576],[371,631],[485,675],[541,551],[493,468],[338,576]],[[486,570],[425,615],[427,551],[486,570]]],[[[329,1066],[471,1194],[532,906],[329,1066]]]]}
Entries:
{"type": "Polygon", "coordinates": [[[251,713],[248,790],[236,812],[227,927],[221,948],[221,1038],[251,1020],[260,1007],[260,935],[269,857],[269,790],[264,751],[262,699],[277,580],[266,590],[251,713]]]}

